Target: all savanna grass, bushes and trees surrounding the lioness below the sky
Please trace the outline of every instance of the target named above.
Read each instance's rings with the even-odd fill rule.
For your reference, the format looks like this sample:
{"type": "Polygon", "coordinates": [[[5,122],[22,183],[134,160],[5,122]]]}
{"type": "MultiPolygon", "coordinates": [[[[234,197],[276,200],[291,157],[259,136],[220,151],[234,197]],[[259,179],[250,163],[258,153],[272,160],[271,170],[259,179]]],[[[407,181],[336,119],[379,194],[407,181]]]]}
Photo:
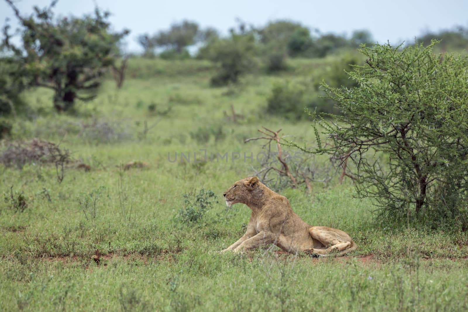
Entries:
{"type": "Polygon", "coordinates": [[[182,21],[134,56],[100,10],[12,12],[0,310],[467,310],[464,29],[374,46],[292,21],[227,36],[182,21]],[[251,175],[358,249],[219,253],[250,215],[222,193],[251,175]]]}

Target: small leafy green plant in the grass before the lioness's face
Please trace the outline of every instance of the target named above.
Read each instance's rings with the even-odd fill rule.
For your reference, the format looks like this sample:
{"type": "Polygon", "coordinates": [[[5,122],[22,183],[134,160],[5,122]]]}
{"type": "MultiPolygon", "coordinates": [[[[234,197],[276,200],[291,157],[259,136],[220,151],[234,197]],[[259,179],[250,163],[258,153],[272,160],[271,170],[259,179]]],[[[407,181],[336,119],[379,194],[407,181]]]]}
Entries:
{"type": "Polygon", "coordinates": [[[184,194],[183,208],[177,212],[176,219],[183,224],[199,223],[213,203],[217,203],[215,197],[215,193],[209,189],[200,189],[195,198],[191,193],[184,194]]]}

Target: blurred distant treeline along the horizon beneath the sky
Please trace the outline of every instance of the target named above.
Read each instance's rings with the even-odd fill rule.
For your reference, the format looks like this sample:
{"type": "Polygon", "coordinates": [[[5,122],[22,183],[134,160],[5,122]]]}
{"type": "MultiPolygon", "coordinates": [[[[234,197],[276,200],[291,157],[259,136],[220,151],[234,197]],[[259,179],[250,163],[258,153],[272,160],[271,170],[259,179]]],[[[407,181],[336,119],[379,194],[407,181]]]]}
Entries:
{"type": "MultiPolygon", "coordinates": [[[[153,35],[139,35],[138,42],[143,48],[143,55],[147,57],[159,55],[166,59],[190,58],[187,48],[196,45],[198,49],[195,57],[208,59],[211,47],[233,33],[253,36],[259,54],[263,55],[264,51],[276,51],[288,57],[322,58],[335,51],[374,43],[372,33],[366,29],[355,30],[351,36],[346,36],[321,33],[319,29],[311,31],[300,22],[290,20],[272,21],[263,27],[238,22],[237,27],[230,29],[229,35],[224,37],[219,35],[217,29],[202,29],[197,22],[184,20],[173,23],[168,29],[153,35]]],[[[438,45],[440,51],[464,50],[468,48],[468,29],[455,26],[450,30],[426,32],[418,36],[416,42],[428,45],[431,39],[441,40],[438,45]]]]}

